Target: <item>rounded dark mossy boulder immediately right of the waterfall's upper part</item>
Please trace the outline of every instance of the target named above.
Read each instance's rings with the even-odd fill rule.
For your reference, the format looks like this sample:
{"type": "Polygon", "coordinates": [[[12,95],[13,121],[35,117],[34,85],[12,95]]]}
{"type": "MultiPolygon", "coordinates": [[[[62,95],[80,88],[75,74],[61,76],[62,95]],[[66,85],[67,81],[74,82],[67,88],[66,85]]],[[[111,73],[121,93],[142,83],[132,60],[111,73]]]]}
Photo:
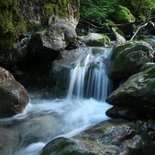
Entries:
{"type": "Polygon", "coordinates": [[[153,61],[152,47],[143,41],[126,42],[113,48],[109,62],[109,77],[126,79],[137,73],[146,62],[153,61]]]}

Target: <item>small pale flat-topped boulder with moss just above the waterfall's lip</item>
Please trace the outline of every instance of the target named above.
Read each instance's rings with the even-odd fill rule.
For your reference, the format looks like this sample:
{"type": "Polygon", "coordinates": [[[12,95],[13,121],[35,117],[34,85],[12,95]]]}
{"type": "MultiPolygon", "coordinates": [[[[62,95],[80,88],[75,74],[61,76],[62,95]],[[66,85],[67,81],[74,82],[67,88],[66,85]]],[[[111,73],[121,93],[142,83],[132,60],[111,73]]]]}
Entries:
{"type": "Polygon", "coordinates": [[[80,38],[88,46],[104,46],[110,42],[110,38],[105,34],[89,33],[80,38]]]}

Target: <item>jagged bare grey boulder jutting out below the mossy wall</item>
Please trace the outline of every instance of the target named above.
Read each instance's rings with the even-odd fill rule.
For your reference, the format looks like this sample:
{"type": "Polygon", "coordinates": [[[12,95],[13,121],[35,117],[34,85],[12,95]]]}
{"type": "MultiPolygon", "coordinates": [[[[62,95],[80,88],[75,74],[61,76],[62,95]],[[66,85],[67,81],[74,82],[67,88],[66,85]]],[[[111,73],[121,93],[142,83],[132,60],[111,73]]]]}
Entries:
{"type": "Polygon", "coordinates": [[[52,16],[49,18],[49,26],[46,29],[32,35],[31,50],[48,58],[65,49],[75,39],[76,32],[71,23],[52,16]]]}

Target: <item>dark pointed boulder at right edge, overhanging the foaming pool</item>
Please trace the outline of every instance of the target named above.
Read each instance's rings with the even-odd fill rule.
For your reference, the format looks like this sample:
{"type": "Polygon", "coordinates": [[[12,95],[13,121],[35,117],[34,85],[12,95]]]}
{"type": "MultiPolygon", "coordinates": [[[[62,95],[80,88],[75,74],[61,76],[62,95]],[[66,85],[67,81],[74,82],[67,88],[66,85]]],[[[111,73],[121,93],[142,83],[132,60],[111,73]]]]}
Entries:
{"type": "Polygon", "coordinates": [[[130,107],[149,115],[155,110],[155,66],[131,76],[107,98],[107,102],[121,107],[130,107]]]}

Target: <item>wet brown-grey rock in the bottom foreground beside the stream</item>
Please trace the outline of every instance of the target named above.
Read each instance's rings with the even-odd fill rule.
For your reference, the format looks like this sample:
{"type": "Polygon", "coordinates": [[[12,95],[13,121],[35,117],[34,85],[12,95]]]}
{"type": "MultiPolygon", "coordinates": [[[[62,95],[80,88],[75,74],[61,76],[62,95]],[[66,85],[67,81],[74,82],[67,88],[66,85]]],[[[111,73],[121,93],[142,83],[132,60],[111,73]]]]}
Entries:
{"type": "Polygon", "coordinates": [[[154,151],[150,139],[133,123],[110,120],[67,139],[56,138],[44,148],[42,155],[137,155],[154,151]]]}

